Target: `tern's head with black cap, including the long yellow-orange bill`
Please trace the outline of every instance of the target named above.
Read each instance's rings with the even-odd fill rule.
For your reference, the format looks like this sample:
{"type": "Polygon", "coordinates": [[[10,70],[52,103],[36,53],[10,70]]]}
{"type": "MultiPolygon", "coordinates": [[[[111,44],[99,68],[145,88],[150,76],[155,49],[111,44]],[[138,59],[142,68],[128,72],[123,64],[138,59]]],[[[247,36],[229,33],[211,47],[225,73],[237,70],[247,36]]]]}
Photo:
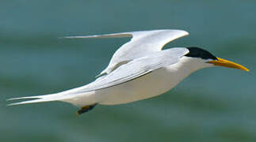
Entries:
{"type": "Polygon", "coordinates": [[[239,65],[235,62],[231,62],[223,58],[217,58],[216,56],[208,52],[208,50],[204,50],[199,47],[187,47],[187,49],[189,49],[189,53],[185,54],[185,56],[189,58],[194,58],[197,61],[202,62],[202,67],[224,66],[227,68],[241,69],[249,72],[249,69],[246,69],[246,67],[244,67],[243,65],[239,65]]]}

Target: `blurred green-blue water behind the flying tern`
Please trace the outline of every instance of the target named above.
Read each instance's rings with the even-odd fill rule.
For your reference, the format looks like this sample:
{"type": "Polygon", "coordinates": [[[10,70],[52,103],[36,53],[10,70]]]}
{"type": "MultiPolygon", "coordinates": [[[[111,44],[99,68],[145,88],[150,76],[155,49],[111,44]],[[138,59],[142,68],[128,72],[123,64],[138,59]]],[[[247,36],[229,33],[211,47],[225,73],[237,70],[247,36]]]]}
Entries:
{"type": "Polygon", "coordinates": [[[256,141],[254,0],[2,0],[0,141],[256,141]],[[6,107],[94,80],[128,39],[58,39],[157,28],[190,36],[166,47],[203,47],[245,65],[203,69],[164,95],[75,116],[67,103],[6,107]]]}

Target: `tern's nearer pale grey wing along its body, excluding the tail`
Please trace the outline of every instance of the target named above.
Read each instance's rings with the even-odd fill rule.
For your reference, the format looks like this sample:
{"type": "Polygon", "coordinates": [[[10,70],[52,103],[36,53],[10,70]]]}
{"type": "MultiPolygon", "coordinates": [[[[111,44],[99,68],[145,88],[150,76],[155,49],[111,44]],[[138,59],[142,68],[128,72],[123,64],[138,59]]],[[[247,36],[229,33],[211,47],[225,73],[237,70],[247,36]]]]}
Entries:
{"type": "Polygon", "coordinates": [[[151,57],[137,58],[132,62],[121,65],[118,69],[115,69],[105,77],[95,80],[93,83],[86,85],[75,93],[109,88],[137,77],[142,77],[155,69],[177,63],[179,59],[187,53],[189,53],[189,50],[186,48],[171,48],[151,54],[151,57]]]}

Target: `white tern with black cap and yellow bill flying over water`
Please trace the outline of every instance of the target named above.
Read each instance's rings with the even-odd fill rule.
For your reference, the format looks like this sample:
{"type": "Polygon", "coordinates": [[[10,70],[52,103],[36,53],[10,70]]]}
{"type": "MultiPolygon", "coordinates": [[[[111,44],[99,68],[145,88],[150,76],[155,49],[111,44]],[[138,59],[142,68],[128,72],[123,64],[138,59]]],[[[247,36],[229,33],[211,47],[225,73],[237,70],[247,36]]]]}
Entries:
{"type": "MultiPolygon", "coordinates": [[[[68,36],[66,38],[132,37],[121,46],[97,80],[85,86],[50,95],[14,99],[33,99],[20,103],[62,101],[81,107],[78,114],[92,110],[97,104],[116,105],[148,99],[174,88],[189,74],[213,66],[249,71],[242,65],[216,58],[199,47],[175,47],[162,50],[166,43],[189,35],[182,30],[153,30],[122,32],[97,36],[68,36]]],[[[13,100],[13,99],[8,99],[13,100]]]]}

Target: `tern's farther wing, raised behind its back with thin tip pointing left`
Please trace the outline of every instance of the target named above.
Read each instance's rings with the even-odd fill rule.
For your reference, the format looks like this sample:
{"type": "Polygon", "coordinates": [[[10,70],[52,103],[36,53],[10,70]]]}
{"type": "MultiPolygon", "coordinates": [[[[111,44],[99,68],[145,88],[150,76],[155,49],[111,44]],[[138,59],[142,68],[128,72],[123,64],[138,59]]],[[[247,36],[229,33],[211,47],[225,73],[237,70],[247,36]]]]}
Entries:
{"type": "Polygon", "coordinates": [[[132,39],[122,45],[113,54],[113,58],[109,62],[109,65],[104,69],[101,74],[110,73],[114,69],[117,69],[120,65],[124,65],[133,59],[146,56],[149,53],[162,50],[162,47],[174,39],[178,39],[182,36],[189,35],[188,32],[182,30],[152,30],[152,31],[139,31],[139,32],[122,32],[105,35],[95,36],[67,36],[65,38],[117,38],[117,37],[132,37],[132,39]]]}

